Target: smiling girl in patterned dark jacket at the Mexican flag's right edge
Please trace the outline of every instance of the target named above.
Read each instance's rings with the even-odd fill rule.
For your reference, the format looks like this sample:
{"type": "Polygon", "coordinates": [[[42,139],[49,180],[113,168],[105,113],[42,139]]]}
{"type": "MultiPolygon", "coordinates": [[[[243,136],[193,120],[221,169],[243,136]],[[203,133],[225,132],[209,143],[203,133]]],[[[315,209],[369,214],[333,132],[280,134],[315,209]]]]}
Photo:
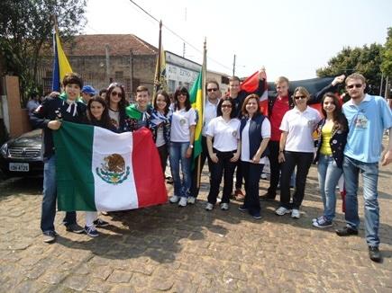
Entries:
{"type": "Polygon", "coordinates": [[[149,128],[152,132],[152,138],[160,154],[160,165],[163,175],[165,175],[166,164],[169,156],[170,146],[170,98],[165,91],[158,91],[155,94],[153,110],[149,118],[149,128]]]}

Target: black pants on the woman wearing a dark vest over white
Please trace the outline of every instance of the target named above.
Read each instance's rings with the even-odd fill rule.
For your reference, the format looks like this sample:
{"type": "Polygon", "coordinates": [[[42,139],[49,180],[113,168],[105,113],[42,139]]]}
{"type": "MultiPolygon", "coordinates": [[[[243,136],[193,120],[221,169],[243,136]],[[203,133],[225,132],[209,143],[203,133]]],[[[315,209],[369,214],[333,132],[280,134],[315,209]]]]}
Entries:
{"type": "Polygon", "coordinates": [[[243,179],[245,180],[245,199],[243,205],[251,214],[260,212],[259,182],[264,164],[242,163],[243,179]]]}

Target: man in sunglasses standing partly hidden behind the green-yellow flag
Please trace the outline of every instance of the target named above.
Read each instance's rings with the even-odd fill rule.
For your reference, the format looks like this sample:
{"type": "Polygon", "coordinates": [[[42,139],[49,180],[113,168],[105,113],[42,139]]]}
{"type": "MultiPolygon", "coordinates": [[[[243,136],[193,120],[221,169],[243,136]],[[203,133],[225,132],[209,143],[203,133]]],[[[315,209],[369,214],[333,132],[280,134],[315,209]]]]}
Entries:
{"type": "MultiPolygon", "coordinates": [[[[201,158],[200,158],[200,164],[201,164],[201,171],[203,170],[203,166],[205,165],[205,159],[208,161],[208,172],[211,173],[212,170],[212,161],[210,156],[208,155],[208,149],[207,149],[207,138],[206,138],[206,129],[208,123],[213,120],[216,117],[216,110],[219,102],[219,98],[221,96],[221,91],[219,89],[219,84],[215,80],[209,80],[206,82],[205,85],[205,90],[207,93],[207,99],[205,100],[205,119],[203,121],[203,129],[202,129],[202,153],[201,158]]],[[[199,194],[200,188],[197,187],[197,178],[198,173],[196,168],[194,168],[192,172],[192,187],[191,187],[191,196],[188,197],[187,202],[188,203],[195,203],[196,198],[199,194]]],[[[211,185],[211,176],[210,176],[210,185],[211,185]]]]}

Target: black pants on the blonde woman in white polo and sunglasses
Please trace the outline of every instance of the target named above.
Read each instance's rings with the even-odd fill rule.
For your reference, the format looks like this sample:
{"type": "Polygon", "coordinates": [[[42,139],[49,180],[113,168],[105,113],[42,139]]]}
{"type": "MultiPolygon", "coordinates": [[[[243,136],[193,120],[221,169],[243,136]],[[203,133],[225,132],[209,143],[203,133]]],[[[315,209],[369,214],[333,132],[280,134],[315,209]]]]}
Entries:
{"type": "Polygon", "coordinates": [[[313,162],[313,153],[285,152],[285,162],[280,175],[280,204],[287,209],[299,209],[305,194],[306,176],[313,162]],[[290,178],[296,167],[296,191],[290,205],[290,178]]]}

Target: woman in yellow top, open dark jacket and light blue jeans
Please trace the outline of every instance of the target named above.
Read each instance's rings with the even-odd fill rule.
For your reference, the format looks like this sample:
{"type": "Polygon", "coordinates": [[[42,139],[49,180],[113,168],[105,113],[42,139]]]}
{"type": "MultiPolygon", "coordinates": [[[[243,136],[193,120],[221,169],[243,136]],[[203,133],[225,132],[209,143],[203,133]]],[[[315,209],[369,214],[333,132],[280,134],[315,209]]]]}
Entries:
{"type": "Polygon", "coordinates": [[[336,185],[341,177],[343,151],[346,146],[348,125],[342,114],[341,102],[333,93],[325,93],[322,100],[324,119],[318,124],[317,162],[318,182],[324,203],[324,214],[313,219],[313,226],[333,226],[336,206],[336,185]]]}

